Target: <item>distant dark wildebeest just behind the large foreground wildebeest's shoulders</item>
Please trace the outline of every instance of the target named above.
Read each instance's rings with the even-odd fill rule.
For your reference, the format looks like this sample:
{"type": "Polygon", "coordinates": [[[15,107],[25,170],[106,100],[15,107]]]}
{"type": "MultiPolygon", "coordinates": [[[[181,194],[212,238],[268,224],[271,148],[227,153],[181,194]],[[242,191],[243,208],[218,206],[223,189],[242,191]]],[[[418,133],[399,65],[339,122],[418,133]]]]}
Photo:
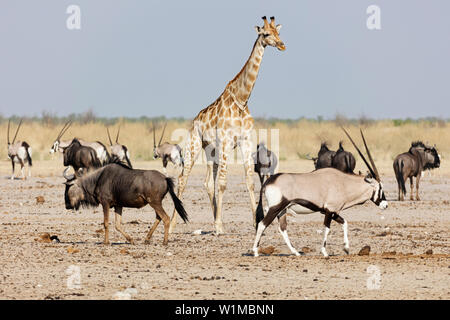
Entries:
{"type": "Polygon", "coordinates": [[[89,171],[102,166],[95,150],[91,147],[82,146],[76,138],[67,148],[64,148],[63,154],[64,166],[72,166],[76,173],[80,168],[86,168],[89,171]]]}

